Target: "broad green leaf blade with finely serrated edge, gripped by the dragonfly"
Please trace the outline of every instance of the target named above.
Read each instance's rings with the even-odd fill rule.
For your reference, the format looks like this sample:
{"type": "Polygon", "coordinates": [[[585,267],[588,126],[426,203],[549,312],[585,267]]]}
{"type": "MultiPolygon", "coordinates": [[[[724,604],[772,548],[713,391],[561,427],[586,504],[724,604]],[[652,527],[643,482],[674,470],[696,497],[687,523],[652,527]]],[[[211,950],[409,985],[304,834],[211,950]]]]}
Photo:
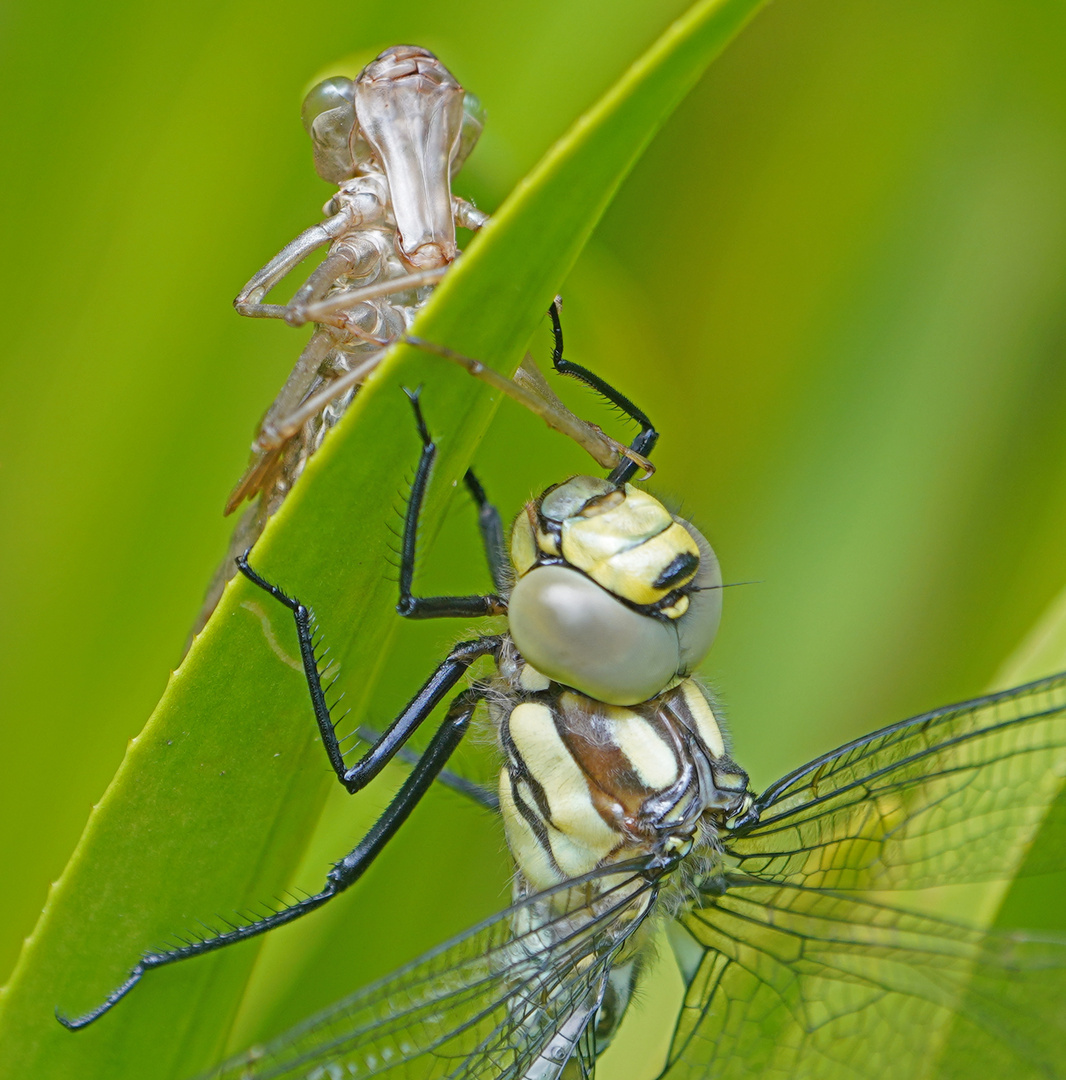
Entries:
{"type": "MultiPolygon", "coordinates": [[[[633,162],[759,6],[704,2],[672,26],[519,186],[438,289],[419,334],[512,370],[633,162]]],[[[407,349],[360,395],[256,550],[257,567],[313,602],[328,627],[353,720],[395,623],[382,558],[417,455],[400,388],[417,384],[442,450],[432,536],[495,402],[407,349]]],[[[132,742],[27,943],[0,1016],[12,1076],[181,1077],[217,1056],[255,945],[153,974],[78,1035],[52,1010],[92,1007],[144,948],[291,880],[330,783],[295,659],[287,615],[232,583],[132,742]]]]}

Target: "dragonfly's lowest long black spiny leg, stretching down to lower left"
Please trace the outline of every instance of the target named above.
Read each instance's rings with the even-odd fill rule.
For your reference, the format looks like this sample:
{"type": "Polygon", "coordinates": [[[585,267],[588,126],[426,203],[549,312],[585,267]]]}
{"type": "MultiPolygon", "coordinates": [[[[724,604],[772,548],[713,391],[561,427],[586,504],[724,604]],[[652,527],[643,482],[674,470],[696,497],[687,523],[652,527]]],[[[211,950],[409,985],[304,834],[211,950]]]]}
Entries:
{"type": "Polygon", "coordinates": [[[297,901],[295,904],[289,904],[264,919],[256,919],[246,926],[234,927],[232,930],[213,937],[205,937],[202,941],[190,942],[187,945],[159,953],[146,953],[130,971],[125,981],[112,990],[99,1005],[76,1017],[64,1016],[56,1011],[56,1018],[59,1023],[70,1030],[86,1027],[121,1001],[140,982],[146,972],[176,963],[178,960],[188,960],[204,953],[214,953],[216,949],[235,945],[249,937],[257,937],[268,930],[285,926],[313,912],[354,885],[432,786],[448,757],[467,733],[470,718],[484,694],[484,688],[474,686],[456,697],[444,721],[430,740],[426,753],[419,758],[418,765],[404,781],[403,786],[366,836],[329,870],[326,883],[319,892],[297,901]]]}

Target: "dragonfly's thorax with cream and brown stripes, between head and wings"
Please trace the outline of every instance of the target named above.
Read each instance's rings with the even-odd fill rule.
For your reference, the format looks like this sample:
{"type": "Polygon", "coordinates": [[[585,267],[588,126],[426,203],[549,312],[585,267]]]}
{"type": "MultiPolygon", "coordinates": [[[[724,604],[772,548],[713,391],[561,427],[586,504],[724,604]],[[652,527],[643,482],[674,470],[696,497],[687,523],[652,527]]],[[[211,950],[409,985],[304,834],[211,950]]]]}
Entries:
{"type": "Polygon", "coordinates": [[[500,683],[500,808],[535,889],[705,841],[748,797],[692,679],[629,707],[551,683],[516,656],[500,683]]]}

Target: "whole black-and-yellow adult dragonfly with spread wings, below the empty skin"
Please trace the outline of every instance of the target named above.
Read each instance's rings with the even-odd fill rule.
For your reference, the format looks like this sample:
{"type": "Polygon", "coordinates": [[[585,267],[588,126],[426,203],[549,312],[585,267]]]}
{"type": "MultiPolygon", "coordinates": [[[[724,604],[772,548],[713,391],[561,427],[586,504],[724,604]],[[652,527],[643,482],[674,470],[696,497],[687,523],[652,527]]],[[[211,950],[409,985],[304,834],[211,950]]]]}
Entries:
{"type": "MultiPolygon", "coordinates": [[[[686,983],[663,1078],[1066,1075],[1066,941],[984,930],[936,903],[945,885],[1063,867],[1062,843],[1033,841],[1049,813],[1062,828],[1052,808],[1066,775],[1066,674],[873,732],[757,793],[693,677],[723,594],[699,530],[638,487],[625,460],[606,480],[574,476],[530,500],[508,549],[468,473],[496,591],[418,596],[436,443],[410,397],[421,453],[397,610],[505,616],[507,630],[453,648],[383,732],[363,729],[370,748],[349,766],[309,609],[242,559],[292,612],[338,780],[355,792],[394,757],[414,767],[318,893],[145,954],[100,1005],[60,1020],[94,1023],[148,972],[354,885],[432,784],[448,782],[449,756],[484,710],[499,789],[467,791],[503,820],[512,906],[213,1076],[592,1077],[661,933],[686,983]],[[411,754],[409,738],[483,658],[496,673],[459,690],[411,754]],[[959,1040],[931,1035],[953,1025],[959,1040]]],[[[657,438],[642,422],[633,446],[650,454],[657,438]]]]}

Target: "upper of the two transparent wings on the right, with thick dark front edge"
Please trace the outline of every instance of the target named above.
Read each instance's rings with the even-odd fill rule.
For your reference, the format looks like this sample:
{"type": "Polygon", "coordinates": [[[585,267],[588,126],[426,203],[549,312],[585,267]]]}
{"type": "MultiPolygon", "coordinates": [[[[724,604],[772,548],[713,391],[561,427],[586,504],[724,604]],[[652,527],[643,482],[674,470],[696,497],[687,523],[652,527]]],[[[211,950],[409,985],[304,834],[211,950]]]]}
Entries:
{"type": "MultiPolygon", "coordinates": [[[[875,731],[771,785],[726,848],[745,874],[832,889],[1010,877],[1038,828],[1066,834],[1064,710],[1066,674],[875,731]]],[[[1066,866],[1041,851],[1031,873],[1066,866]]]]}

